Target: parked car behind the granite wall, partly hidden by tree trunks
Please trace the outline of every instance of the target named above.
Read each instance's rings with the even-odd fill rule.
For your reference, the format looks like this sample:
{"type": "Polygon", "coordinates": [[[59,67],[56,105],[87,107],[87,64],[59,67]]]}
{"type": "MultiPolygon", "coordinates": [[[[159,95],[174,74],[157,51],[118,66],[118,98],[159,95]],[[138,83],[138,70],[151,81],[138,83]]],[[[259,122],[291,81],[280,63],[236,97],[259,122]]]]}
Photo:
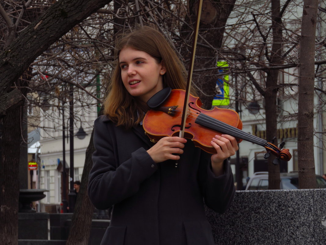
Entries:
{"type": "MultiPolygon", "coordinates": [[[[280,189],[298,189],[299,177],[298,172],[280,173],[280,189]]],[[[326,188],[326,181],[316,174],[317,188],[326,188]]],[[[246,190],[267,190],[268,189],[268,172],[256,172],[249,179],[246,190]]]]}

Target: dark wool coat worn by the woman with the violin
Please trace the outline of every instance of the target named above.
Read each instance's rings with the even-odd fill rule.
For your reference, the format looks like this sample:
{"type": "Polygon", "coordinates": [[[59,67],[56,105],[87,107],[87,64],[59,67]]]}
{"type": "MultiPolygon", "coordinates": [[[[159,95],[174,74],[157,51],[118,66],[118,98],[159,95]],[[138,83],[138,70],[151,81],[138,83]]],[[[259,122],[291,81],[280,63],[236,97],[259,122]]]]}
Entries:
{"type": "Polygon", "coordinates": [[[188,140],[177,168],[172,160],[156,164],[141,125],[126,130],[106,116],[95,121],[94,144],[88,195],[98,209],[114,205],[101,245],[215,244],[204,202],[219,213],[230,206],[235,188],[227,160],[215,177],[211,155],[188,140]]]}

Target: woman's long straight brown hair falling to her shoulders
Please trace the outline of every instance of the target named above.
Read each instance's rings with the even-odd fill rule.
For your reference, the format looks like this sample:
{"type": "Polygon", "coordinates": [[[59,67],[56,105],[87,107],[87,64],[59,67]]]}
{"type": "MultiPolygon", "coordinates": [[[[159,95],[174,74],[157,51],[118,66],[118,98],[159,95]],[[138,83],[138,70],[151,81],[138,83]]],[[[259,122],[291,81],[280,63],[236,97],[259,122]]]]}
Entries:
{"type": "Polygon", "coordinates": [[[163,87],[185,90],[186,79],[184,65],[160,32],[149,26],[143,26],[127,34],[122,34],[116,42],[115,69],[103,105],[104,114],[116,125],[130,128],[141,122],[148,107],[131,96],[123,85],[119,54],[125,47],[146,52],[158,63],[163,61],[166,67],[166,73],[163,75],[163,87]]]}

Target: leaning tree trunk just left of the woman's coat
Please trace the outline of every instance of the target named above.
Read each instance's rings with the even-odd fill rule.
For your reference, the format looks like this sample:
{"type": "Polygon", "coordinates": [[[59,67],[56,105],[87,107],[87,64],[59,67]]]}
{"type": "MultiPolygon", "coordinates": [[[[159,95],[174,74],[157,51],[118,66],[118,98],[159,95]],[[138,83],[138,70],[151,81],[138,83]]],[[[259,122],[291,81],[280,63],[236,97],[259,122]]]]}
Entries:
{"type": "Polygon", "coordinates": [[[92,131],[90,143],[86,150],[81,186],[78,192],[74,214],[72,215],[72,227],[70,229],[66,245],[87,245],[90,237],[94,206],[89,200],[87,185],[88,175],[93,166],[92,155],[95,151],[93,135],[94,129],[92,131]]]}

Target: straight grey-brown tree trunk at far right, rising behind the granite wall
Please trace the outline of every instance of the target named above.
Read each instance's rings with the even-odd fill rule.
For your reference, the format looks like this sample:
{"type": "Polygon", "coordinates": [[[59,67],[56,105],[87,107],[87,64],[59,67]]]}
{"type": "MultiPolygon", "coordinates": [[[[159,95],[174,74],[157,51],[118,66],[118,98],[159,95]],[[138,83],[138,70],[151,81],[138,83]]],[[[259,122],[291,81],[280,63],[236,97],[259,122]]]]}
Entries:
{"type": "Polygon", "coordinates": [[[300,40],[298,104],[299,188],[316,188],[314,159],[314,81],[317,0],[304,0],[300,40]]]}

